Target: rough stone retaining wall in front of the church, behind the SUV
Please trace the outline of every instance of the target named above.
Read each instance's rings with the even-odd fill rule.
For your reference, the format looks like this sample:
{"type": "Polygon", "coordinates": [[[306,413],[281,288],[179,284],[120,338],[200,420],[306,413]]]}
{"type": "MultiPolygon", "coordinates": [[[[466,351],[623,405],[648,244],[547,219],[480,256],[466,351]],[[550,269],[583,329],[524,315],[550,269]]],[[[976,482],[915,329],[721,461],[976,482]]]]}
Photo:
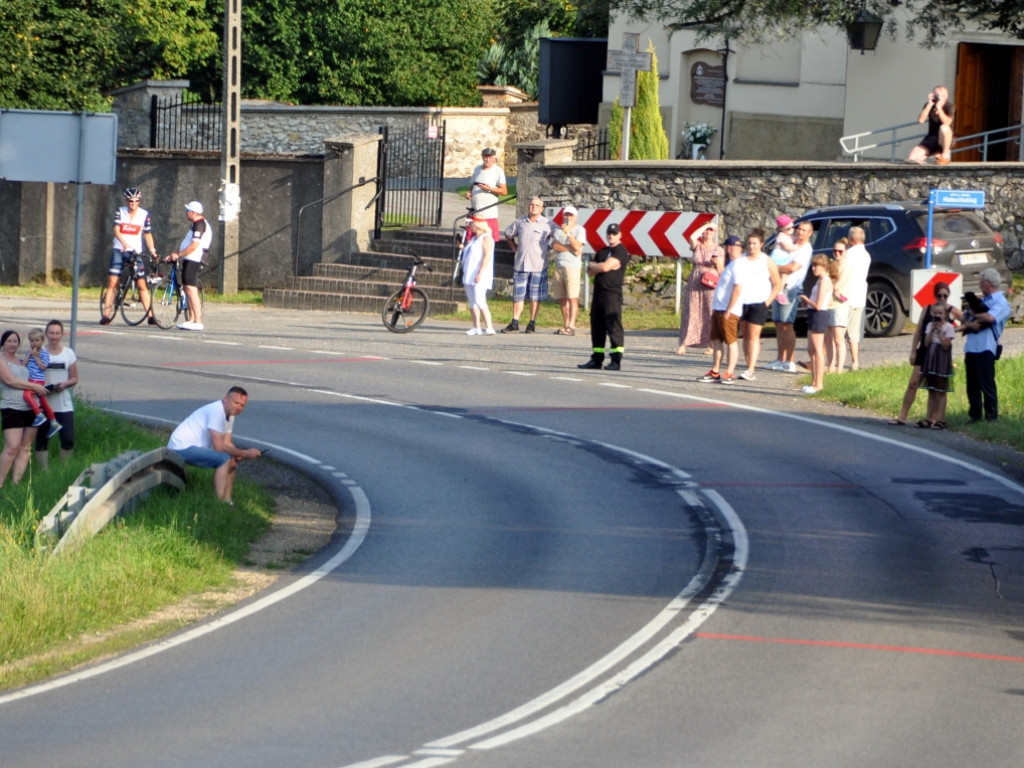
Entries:
{"type": "MultiPolygon", "coordinates": [[[[927,200],[932,188],[982,189],[979,214],[1002,233],[1007,258],[1024,241],[1024,164],[594,162],[565,161],[564,141],[520,147],[519,198],[548,205],[648,211],[708,211],[722,216],[723,233],[756,226],[771,232],[781,213],[853,203],[927,200]],[[526,170],[524,172],[523,167],[526,170]]],[[[1015,259],[1019,265],[1020,256],[1015,259]]],[[[1018,266],[1019,268],[1019,266],[1018,266]]]]}

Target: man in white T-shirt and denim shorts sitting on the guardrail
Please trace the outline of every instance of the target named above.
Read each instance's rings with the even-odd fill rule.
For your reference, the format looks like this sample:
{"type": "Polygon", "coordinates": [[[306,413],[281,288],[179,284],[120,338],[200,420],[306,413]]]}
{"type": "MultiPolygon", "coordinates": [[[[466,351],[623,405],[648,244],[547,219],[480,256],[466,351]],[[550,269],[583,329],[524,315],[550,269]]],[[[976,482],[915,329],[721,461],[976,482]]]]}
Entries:
{"type": "Polygon", "coordinates": [[[216,470],[213,489],[217,498],[231,504],[234,487],[234,469],[242,459],[258,459],[259,449],[239,449],[231,442],[234,417],[241,414],[249,400],[249,393],[242,387],[231,387],[223,399],[194,412],[171,433],[167,447],[176,453],[185,464],[216,470]]]}

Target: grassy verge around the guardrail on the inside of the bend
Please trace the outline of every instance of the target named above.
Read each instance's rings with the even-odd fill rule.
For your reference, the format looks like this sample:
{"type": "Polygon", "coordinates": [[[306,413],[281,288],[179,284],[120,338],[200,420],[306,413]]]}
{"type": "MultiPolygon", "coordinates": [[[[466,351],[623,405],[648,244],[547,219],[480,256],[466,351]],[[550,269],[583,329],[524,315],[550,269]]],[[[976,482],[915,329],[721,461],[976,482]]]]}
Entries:
{"type": "MultiPolygon", "coordinates": [[[[226,588],[251,542],[269,528],[273,500],[240,479],[234,506],[216,500],[212,470],[189,468],[178,493],[155,490],[68,555],[33,546],[35,527],[81,471],[128,450],[148,451],[166,436],[76,403],[72,461],[35,465],[0,498],[0,689],[24,685],[100,653],[123,650],[170,629],[153,626],[83,648],[73,641],[100,633],[186,595],[226,588]]],[[[173,628],[173,627],[171,627],[173,628]]]]}

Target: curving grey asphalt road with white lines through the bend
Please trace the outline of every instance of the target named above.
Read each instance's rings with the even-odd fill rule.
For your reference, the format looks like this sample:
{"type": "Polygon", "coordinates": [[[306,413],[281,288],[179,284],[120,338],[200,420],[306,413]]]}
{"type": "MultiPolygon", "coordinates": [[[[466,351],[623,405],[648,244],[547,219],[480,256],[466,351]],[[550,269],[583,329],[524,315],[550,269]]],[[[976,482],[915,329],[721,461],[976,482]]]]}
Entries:
{"type": "Polygon", "coordinates": [[[242,383],[240,440],[342,530],[241,612],[0,696],[5,768],[1019,764],[1024,488],[967,441],[697,384],[667,334],[588,374],[581,337],[206,319],[83,327],[82,393],[174,421],[242,383]]]}

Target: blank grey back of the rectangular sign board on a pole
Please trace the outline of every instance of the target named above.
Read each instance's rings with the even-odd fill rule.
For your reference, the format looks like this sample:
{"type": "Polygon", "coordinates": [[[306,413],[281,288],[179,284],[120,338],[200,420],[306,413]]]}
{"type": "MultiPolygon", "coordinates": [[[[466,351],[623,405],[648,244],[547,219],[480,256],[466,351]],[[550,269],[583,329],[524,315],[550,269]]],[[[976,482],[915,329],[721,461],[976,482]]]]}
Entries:
{"type": "Polygon", "coordinates": [[[0,110],[2,179],[113,184],[117,166],[117,115],[0,110]]]}

